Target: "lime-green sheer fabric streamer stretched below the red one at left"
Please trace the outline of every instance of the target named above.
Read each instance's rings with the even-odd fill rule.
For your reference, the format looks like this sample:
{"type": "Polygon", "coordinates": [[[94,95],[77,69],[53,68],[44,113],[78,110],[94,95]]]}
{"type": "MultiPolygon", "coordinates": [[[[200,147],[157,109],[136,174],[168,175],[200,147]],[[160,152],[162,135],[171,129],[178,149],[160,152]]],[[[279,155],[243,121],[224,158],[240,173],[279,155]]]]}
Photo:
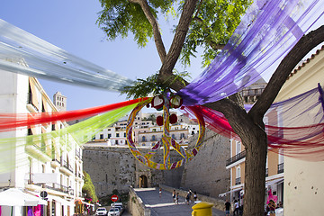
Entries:
{"type": "MultiPolygon", "coordinates": [[[[14,168],[28,169],[28,157],[35,157],[44,163],[54,158],[59,160],[61,150],[70,151],[75,144],[85,144],[93,139],[96,133],[121,119],[136,105],[137,103],[96,115],[61,130],[25,137],[0,139],[0,174],[10,172],[14,168]]],[[[12,136],[14,132],[4,132],[2,137],[12,136]]]]}

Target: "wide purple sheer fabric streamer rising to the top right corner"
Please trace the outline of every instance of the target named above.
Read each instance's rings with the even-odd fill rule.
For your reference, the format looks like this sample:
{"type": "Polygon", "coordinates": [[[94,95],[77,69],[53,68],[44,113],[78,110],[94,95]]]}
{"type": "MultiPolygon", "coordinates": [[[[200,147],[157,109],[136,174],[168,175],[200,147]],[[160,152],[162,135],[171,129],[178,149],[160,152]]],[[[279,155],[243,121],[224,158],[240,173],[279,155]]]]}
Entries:
{"type": "Polygon", "coordinates": [[[178,93],[184,105],[218,101],[271,75],[323,8],[319,0],[255,1],[211,65],[178,93]]]}

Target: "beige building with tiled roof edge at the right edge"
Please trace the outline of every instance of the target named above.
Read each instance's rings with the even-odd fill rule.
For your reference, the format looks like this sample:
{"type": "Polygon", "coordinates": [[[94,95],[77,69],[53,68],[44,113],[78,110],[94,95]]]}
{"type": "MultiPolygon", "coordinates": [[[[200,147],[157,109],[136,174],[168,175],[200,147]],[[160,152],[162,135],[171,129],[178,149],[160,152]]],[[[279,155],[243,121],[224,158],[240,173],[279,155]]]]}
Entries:
{"type": "MultiPolygon", "coordinates": [[[[324,46],[292,72],[276,101],[307,92],[318,83],[324,85],[324,46]]],[[[323,215],[324,162],[284,157],[284,166],[284,215],[323,215]]]]}

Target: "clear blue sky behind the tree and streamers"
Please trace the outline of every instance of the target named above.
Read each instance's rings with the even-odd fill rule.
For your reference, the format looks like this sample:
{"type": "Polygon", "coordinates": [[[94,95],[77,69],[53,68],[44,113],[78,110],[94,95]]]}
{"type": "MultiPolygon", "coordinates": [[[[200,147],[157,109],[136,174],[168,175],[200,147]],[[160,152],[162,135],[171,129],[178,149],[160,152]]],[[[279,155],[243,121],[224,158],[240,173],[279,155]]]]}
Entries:
{"type": "MultiPolygon", "coordinates": [[[[161,67],[153,41],[139,48],[132,35],[126,40],[108,41],[96,24],[102,10],[98,0],[10,0],[0,7],[0,18],[24,31],[67,50],[69,53],[112,70],[130,79],[146,78],[161,67]]],[[[162,38],[169,48],[173,34],[172,21],[159,19],[162,38]]],[[[177,67],[188,71],[192,77],[202,72],[201,59],[193,60],[193,67],[177,67]]],[[[49,98],[56,92],[67,96],[67,110],[78,110],[98,105],[118,103],[125,95],[92,87],[62,84],[40,79],[49,98]]]]}

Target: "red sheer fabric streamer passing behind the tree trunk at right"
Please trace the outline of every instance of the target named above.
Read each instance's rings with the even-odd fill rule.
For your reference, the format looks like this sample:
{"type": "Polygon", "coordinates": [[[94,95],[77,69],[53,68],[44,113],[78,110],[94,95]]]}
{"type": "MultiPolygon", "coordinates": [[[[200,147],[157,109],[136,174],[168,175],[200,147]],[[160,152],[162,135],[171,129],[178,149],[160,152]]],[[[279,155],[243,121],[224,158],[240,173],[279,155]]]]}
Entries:
{"type": "MultiPolygon", "coordinates": [[[[184,107],[186,114],[194,120],[192,107],[184,107]]],[[[239,140],[229,121],[221,112],[200,107],[207,128],[229,139],[239,140]]],[[[266,125],[268,149],[288,157],[309,161],[324,160],[324,123],[303,127],[276,127],[266,125]],[[279,151],[279,149],[282,149],[279,151]]]]}

